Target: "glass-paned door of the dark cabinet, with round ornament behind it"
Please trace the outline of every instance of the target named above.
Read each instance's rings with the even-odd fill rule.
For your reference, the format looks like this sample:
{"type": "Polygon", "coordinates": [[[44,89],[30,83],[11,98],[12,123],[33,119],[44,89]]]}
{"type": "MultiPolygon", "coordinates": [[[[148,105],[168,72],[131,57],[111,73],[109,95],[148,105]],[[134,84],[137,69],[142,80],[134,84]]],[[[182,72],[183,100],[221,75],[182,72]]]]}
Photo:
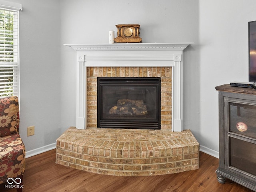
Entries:
{"type": "Polygon", "coordinates": [[[256,175],[256,102],[224,98],[225,166],[256,175]]]}

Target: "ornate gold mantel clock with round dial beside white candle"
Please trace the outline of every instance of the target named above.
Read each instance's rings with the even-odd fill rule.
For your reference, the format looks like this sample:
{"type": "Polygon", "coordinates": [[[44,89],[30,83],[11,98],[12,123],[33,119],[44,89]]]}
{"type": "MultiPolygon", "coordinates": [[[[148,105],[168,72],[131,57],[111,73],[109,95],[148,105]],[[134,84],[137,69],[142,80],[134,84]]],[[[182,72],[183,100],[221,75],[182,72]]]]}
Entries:
{"type": "Polygon", "coordinates": [[[140,25],[138,24],[119,24],[116,25],[117,37],[114,43],[142,43],[140,38],[140,25]]]}

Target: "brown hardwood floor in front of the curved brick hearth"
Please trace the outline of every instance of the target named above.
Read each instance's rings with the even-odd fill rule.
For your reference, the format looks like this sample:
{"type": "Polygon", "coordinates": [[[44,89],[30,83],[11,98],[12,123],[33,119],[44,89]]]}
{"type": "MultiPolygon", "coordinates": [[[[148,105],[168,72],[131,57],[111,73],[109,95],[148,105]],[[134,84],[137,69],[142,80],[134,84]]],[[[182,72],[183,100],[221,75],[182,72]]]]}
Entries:
{"type": "MultiPolygon", "coordinates": [[[[26,159],[23,192],[252,192],[235,182],[217,181],[218,159],[200,152],[200,168],[162,176],[123,177],[84,172],[55,163],[51,150],[26,159]]],[[[1,192],[16,189],[0,185],[1,192]]]]}

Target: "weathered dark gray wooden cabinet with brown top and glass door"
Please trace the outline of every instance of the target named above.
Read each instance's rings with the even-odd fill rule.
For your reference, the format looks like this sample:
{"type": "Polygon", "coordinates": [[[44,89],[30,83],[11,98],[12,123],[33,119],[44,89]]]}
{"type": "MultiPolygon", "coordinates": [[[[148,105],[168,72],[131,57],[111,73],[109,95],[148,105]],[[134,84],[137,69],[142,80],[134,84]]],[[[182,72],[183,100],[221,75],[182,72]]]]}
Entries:
{"type": "Polygon", "coordinates": [[[215,87],[219,92],[219,167],[226,178],[256,191],[256,89],[215,87]]]}

